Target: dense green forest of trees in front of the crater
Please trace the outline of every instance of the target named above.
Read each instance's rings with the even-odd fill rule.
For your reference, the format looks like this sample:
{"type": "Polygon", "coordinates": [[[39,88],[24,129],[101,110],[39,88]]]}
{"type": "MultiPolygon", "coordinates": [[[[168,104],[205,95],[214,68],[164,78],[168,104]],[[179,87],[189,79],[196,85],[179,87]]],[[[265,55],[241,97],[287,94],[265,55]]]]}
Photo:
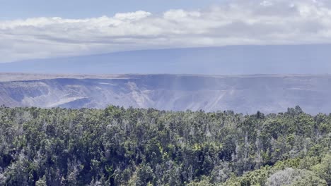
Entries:
{"type": "Polygon", "coordinates": [[[0,108],[0,185],[331,185],[331,115],[0,108]]]}

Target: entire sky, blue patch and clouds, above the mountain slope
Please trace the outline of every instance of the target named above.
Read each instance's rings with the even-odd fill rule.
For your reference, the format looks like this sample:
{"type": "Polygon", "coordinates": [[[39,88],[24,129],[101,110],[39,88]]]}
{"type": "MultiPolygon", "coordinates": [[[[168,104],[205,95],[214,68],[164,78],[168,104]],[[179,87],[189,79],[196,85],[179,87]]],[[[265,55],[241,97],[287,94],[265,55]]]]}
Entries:
{"type": "Polygon", "coordinates": [[[0,63],[112,51],[328,44],[327,0],[0,0],[0,63]]]}

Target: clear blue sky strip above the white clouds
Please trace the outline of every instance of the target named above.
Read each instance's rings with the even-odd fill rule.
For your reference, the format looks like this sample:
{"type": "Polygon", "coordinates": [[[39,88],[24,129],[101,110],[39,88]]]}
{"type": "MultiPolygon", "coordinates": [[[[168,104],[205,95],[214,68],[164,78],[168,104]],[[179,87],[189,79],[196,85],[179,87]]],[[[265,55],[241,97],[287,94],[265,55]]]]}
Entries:
{"type": "Polygon", "coordinates": [[[1,0],[0,18],[91,18],[139,10],[159,13],[178,8],[207,8],[225,2],[226,0],[1,0]]]}

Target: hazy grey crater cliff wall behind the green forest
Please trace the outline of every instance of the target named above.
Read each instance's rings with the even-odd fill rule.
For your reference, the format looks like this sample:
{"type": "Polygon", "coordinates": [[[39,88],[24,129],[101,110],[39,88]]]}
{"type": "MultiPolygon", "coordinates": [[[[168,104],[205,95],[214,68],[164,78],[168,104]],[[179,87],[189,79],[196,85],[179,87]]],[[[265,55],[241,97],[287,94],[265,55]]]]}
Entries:
{"type": "Polygon", "coordinates": [[[274,113],[299,105],[309,113],[331,111],[329,75],[2,76],[0,105],[6,106],[274,113]]]}

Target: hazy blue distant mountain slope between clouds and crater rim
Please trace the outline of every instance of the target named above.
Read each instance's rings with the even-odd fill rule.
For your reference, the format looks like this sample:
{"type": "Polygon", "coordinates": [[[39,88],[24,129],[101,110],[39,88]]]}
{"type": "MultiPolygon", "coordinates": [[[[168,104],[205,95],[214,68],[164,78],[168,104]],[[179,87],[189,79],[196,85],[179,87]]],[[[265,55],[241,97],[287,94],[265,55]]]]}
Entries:
{"type": "Polygon", "coordinates": [[[123,51],[93,56],[0,63],[0,72],[323,74],[330,73],[330,51],[330,44],[123,51]]]}

